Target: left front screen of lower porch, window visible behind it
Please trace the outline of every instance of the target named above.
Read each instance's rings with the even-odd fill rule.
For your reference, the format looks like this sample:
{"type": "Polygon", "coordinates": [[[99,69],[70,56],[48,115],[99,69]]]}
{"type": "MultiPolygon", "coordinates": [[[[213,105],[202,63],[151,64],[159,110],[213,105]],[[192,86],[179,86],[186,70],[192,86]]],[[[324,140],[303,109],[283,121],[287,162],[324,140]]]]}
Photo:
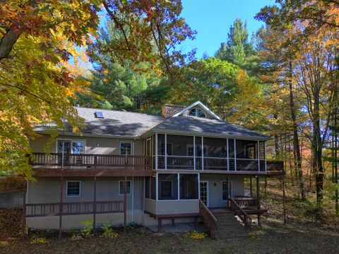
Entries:
{"type": "Polygon", "coordinates": [[[178,199],[178,175],[158,174],[158,199],[177,200],[178,199]]]}

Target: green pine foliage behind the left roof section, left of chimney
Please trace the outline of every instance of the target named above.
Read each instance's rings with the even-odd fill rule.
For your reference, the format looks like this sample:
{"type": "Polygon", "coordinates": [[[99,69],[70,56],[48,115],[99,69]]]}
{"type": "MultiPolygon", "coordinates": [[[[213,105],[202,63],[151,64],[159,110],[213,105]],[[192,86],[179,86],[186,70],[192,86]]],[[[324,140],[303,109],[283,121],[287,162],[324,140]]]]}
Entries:
{"type": "Polygon", "coordinates": [[[95,69],[90,78],[90,93],[78,94],[75,103],[92,108],[109,110],[154,111],[160,108],[169,88],[162,82],[160,74],[150,64],[135,64],[129,59],[124,63],[115,61],[105,51],[119,37],[114,23],[108,22],[93,48],[91,59],[95,69]],[[147,71],[147,72],[145,72],[147,71]]]}

